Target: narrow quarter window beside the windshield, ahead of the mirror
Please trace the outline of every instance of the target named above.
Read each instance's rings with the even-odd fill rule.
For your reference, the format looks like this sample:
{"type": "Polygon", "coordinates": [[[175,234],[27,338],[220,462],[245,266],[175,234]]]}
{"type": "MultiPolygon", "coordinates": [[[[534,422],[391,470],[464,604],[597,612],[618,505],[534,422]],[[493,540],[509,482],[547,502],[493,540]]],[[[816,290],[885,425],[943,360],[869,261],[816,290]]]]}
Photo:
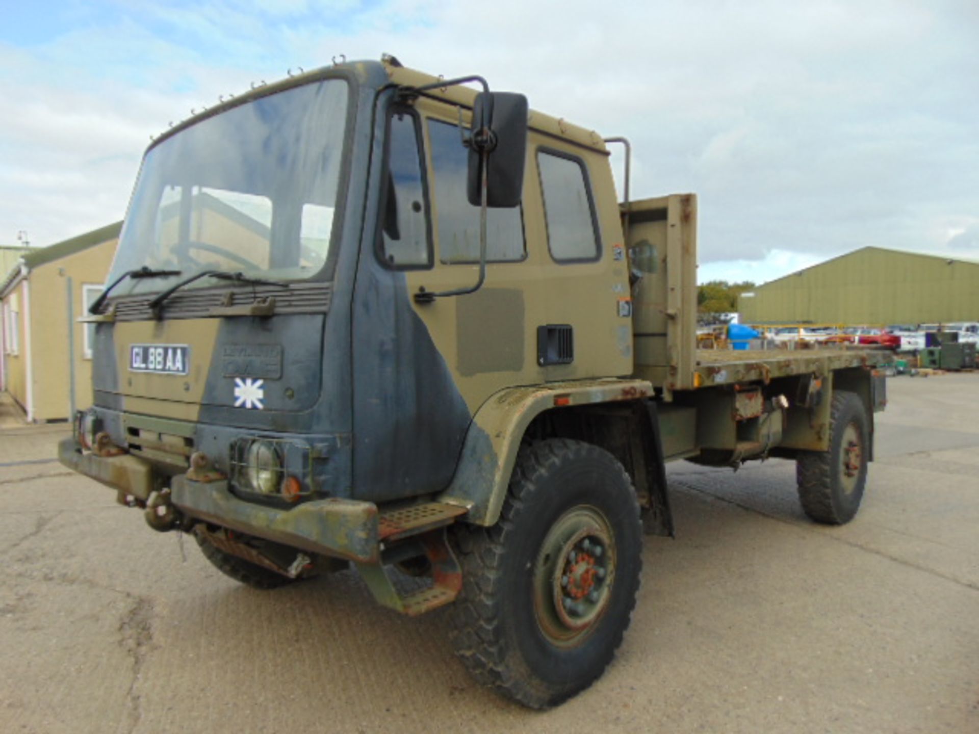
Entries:
{"type": "Polygon", "coordinates": [[[398,268],[430,266],[432,256],[421,148],[415,117],[403,111],[395,112],[391,117],[385,186],[379,243],[381,258],[398,268]]]}

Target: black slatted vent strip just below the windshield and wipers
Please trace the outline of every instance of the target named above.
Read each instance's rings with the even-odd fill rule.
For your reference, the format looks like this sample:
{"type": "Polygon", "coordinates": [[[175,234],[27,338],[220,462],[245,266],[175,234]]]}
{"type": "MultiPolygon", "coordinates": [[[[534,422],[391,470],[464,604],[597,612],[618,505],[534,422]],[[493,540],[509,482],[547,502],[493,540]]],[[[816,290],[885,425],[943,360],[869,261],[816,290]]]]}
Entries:
{"type": "MultiPolygon", "coordinates": [[[[120,296],[103,312],[114,307],[117,321],[147,321],[155,318],[150,301],[157,294],[120,296]]],[[[220,316],[214,313],[222,306],[250,305],[263,298],[275,298],[275,313],[320,313],[330,308],[333,287],[330,283],[293,283],[288,289],[274,286],[241,286],[240,288],[207,288],[177,291],[163,302],[167,319],[197,319],[220,316]]]]}

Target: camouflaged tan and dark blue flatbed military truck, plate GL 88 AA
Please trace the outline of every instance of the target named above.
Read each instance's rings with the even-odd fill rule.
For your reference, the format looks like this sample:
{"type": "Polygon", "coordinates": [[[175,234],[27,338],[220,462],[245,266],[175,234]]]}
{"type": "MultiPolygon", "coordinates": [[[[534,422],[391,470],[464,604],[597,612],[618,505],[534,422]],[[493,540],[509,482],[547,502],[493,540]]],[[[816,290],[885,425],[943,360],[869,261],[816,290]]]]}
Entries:
{"type": "Polygon", "coordinates": [[[643,533],[674,534],[666,462],[794,459],[846,523],[885,399],[872,353],[698,351],[696,197],[630,201],[627,171],[620,202],[622,142],[390,57],[174,126],[61,461],[243,583],[352,566],[397,612],[450,605],[503,694],[579,693],[643,533]]]}

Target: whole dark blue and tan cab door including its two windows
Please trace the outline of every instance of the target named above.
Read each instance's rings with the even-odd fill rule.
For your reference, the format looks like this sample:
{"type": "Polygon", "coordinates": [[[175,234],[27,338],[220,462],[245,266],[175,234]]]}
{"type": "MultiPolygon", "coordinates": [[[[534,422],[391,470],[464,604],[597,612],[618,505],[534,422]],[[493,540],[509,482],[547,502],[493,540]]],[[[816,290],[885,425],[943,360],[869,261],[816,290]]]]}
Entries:
{"type": "Polygon", "coordinates": [[[522,207],[489,212],[488,265],[476,293],[414,298],[474,284],[479,207],[466,199],[457,109],[431,100],[379,115],[374,181],[353,289],[353,496],[391,500],[442,490],[480,406],[543,382],[536,223],[522,207]]]}

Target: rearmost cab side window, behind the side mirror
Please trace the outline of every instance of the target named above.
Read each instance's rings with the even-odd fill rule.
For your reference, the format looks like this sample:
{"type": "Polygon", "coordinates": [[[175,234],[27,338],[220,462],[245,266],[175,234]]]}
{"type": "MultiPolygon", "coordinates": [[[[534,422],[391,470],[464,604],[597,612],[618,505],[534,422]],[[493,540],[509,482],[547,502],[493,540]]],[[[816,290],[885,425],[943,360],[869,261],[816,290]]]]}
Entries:
{"type": "Polygon", "coordinates": [[[594,207],[582,161],[537,151],[547,247],[559,262],[598,258],[594,207]]]}

